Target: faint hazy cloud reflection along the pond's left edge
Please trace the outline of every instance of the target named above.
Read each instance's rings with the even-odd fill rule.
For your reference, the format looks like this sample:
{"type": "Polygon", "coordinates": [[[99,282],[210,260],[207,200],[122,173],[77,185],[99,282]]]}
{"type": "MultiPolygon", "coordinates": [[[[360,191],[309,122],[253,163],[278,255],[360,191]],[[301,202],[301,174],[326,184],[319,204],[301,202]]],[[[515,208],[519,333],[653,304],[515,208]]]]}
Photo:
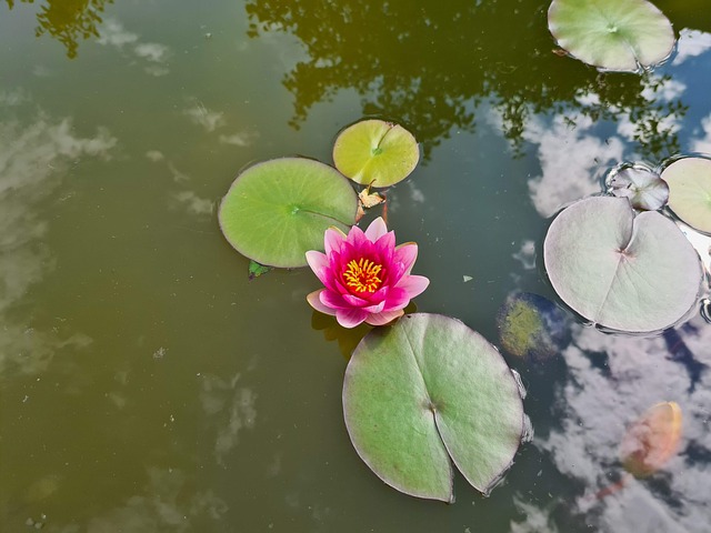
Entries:
{"type": "Polygon", "coordinates": [[[91,342],[81,334],[62,340],[28,329],[7,313],[53,266],[50,251],[40,241],[48,224],[39,203],[52,195],[70,161],[87,155],[108,158],[117,144],[106,129],[93,138],[74,137],[70,119],[56,121],[40,112],[24,124],[6,117],[8,105],[18,103],[17,99],[0,101],[0,373],[38,372],[56,350],[91,342]]]}

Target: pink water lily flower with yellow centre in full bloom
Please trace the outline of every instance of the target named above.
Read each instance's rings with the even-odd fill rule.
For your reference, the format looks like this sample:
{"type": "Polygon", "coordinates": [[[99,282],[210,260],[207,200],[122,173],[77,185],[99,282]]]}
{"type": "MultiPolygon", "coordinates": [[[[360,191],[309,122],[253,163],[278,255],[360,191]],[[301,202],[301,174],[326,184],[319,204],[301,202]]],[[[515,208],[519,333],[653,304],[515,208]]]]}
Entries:
{"type": "Polygon", "coordinates": [[[348,235],[329,228],[324,244],[326,253],[307,252],[309,266],[326,286],[307,300],[317,311],[336,315],[344,328],[391,322],[430,284],[423,275],[410,274],[418,245],[395,247],[395,233],[388,231],[381,218],[365,231],[352,227],[348,235]]]}

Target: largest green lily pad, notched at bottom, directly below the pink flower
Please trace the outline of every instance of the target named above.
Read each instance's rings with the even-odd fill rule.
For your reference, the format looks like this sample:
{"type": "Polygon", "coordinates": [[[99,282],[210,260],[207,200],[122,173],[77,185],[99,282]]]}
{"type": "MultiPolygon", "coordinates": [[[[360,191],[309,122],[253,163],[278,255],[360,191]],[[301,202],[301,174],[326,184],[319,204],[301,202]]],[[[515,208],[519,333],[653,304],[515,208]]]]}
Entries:
{"type": "Polygon", "coordinates": [[[452,461],[475,489],[491,490],[513,461],[524,418],[497,349],[460,321],[427,313],[360,342],[346,370],[343,414],[382,481],[444,502],[453,501],[452,461]]]}

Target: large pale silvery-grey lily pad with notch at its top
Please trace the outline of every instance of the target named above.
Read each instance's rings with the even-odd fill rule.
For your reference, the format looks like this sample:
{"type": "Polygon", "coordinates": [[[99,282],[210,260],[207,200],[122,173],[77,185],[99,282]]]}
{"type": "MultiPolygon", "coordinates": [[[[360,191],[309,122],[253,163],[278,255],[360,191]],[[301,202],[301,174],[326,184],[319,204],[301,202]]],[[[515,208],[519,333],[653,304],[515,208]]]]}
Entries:
{"type": "Polygon", "coordinates": [[[622,198],[593,197],[563,210],[543,244],[553,289],[585,319],[612,330],[652,332],[695,305],[697,252],[668,218],[635,217],[622,198]]]}

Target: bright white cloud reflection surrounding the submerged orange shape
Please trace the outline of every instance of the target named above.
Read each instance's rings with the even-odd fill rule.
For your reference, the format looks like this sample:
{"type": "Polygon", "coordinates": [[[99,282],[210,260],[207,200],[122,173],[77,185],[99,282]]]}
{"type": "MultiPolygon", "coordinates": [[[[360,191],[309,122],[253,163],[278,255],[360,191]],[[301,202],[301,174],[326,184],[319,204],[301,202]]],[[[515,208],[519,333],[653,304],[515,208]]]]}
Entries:
{"type": "MultiPolygon", "coordinates": [[[[681,343],[702,364],[698,386],[664,338],[610,335],[577,325],[562,353],[568,375],[554,386],[553,426],[534,445],[570,479],[577,494],[558,495],[544,507],[561,507],[594,531],[702,532],[708,527],[707,489],[711,467],[711,328],[700,316],[675,329],[681,343]],[[604,497],[595,494],[622,473],[619,445],[625,428],[648,408],[675,401],[683,413],[680,452],[648,480],[632,480],[604,497]]],[[[525,512],[525,505],[519,505],[525,512]]],[[[532,515],[517,531],[542,519],[532,515]],[[533,522],[532,522],[533,521],[533,522]]],[[[552,520],[552,519],[548,519],[552,520]]]]}

